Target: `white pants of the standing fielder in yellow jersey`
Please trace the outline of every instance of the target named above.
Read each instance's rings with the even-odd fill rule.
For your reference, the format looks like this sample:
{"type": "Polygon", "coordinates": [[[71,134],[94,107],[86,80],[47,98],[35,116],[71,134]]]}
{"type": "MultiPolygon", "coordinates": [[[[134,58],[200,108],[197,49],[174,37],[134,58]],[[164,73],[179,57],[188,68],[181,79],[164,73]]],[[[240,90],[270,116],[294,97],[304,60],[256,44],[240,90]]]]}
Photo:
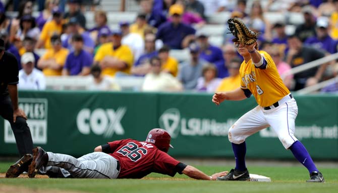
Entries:
{"type": "Polygon", "coordinates": [[[257,106],[244,114],[229,129],[229,141],[241,144],[250,135],[270,126],[277,134],[283,146],[288,149],[293,143],[298,141],[294,136],[298,107],[296,100],[290,99],[289,95],[279,102],[281,101],[283,103],[279,103],[279,106],[276,108],[264,110],[262,107],[257,106]]]}

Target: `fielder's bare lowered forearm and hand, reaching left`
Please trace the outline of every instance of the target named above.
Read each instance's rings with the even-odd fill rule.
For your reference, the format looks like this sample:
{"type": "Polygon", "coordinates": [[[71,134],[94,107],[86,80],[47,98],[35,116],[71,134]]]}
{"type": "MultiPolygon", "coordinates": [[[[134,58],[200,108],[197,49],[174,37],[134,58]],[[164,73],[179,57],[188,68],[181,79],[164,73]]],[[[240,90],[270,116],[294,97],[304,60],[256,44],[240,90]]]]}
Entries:
{"type": "Polygon", "coordinates": [[[212,103],[219,105],[225,100],[228,101],[242,101],[246,99],[246,95],[242,88],[237,88],[229,92],[216,92],[212,96],[212,103]]]}

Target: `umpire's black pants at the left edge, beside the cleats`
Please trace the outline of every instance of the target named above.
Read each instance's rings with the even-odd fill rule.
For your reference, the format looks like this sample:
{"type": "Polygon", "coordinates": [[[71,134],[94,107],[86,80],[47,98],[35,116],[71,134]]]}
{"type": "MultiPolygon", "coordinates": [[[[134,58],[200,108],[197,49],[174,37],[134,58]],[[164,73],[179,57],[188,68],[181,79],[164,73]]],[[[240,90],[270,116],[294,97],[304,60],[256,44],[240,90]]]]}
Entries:
{"type": "Polygon", "coordinates": [[[11,124],[20,156],[32,154],[33,140],[29,127],[22,117],[17,117],[16,122],[13,123],[13,107],[9,95],[0,97],[0,115],[11,124]]]}

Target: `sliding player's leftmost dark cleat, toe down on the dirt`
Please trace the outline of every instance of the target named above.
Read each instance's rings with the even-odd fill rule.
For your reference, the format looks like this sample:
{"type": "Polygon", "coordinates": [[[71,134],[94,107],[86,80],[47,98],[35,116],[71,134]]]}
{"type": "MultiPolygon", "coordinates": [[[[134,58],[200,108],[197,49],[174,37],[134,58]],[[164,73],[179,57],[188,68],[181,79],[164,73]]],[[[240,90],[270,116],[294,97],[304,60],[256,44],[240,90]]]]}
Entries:
{"type": "Polygon", "coordinates": [[[6,177],[18,177],[24,171],[28,171],[28,166],[32,163],[33,156],[25,154],[16,163],[10,166],[6,172],[6,177]]]}

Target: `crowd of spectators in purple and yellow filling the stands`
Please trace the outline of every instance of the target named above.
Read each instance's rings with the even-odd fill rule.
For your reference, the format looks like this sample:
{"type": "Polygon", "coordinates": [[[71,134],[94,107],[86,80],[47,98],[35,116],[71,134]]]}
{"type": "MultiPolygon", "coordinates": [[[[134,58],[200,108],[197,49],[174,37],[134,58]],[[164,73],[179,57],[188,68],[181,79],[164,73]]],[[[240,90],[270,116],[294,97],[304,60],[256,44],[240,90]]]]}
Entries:
{"type": "MultiPolygon", "coordinates": [[[[232,34],[226,30],[222,46],[218,47],[200,30],[210,24],[210,16],[224,11],[260,33],[259,48],[271,55],[291,90],[338,73],[338,65],[332,61],[283,76],[291,68],[337,52],[336,0],[268,1],[264,7],[260,1],[250,1],[248,7],[243,0],[138,0],[140,12],[136,20],[120,21],[119,29],[107,25],[107,13],[101,10],[95,11],[95,26],[87,28],[81,7],[87,1],[9,2],[14,4],[0,2],[0,38],[18,60],[20,89],[45,89],[46,76],[91,76],[90,90],[119,90],[111,77],[120,76],[144,76],[142,90],[149,91],[235,89],[240,85],[243,58],[233,45],[232,34]],[[41,2],[44,9],[40,8],[39,16],[34,18],[33,6],[38,3],[41,7],[41,2]],[[7,11],[16,9],[17,17],[7,16],[7,11]],[[296,27],[293,35],[287,35],[287,23],[269,23],[265,12],[299,12],[304,23],[296,27]],[[36,49],[46,52],[40,56],[36,49]],[[174,58],[171,49],[188,49],[189,60],[174,58]]],[[[226,21],[223,25],[227,25],[226,21]]],[[[322,89],[337,90],[336,83],[322,89]]]]}

